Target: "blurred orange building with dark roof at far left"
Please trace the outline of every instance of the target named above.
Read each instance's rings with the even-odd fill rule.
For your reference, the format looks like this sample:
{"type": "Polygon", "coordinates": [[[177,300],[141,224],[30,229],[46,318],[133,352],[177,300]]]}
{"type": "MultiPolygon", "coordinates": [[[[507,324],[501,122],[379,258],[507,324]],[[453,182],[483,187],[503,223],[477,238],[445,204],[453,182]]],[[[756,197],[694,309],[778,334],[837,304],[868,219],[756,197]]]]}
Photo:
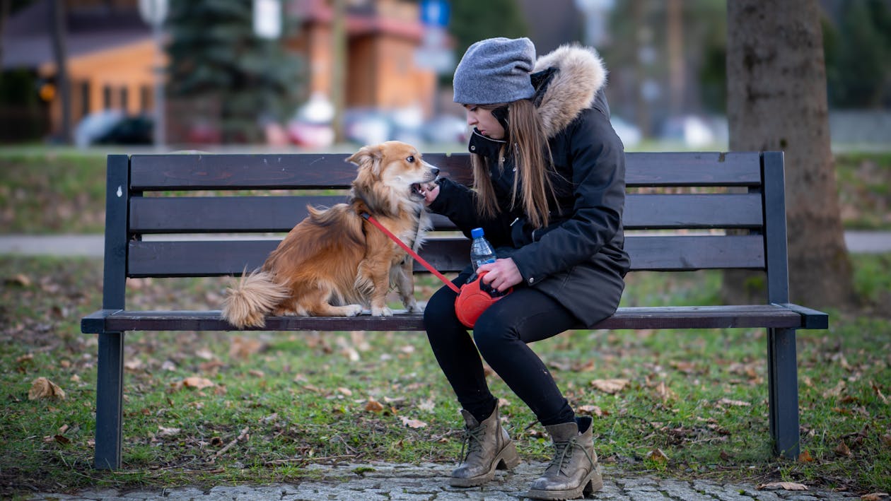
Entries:
{"type": "MultiPolygon", "coordinates": [[[[55,133],[61,129],[61,99],[54,85],[55,56],[51,31],[51,0],[39,0],[16,12],[6,22],[3,37],[3,69],[29,70],[37,77],[41,105],[15,109],[4,103],[0,115],[19,120],[40,120],[55,133]]],[[[101,109],[126,109],[130,113],[151,109],[155,45],[151,29],[144,25],[129,2],[66,2],[65,48],[71,90],[73,122],[101,109]]],[[[0,116],[0,120],[5,121],[0,116]]]]}

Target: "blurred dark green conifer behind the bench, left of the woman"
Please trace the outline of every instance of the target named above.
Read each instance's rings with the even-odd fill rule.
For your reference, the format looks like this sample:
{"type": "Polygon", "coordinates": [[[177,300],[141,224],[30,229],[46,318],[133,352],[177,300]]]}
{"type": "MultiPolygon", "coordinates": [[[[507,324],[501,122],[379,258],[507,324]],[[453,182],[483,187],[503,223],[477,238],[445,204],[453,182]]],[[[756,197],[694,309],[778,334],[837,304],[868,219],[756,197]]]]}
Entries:
{"type": "MultiPolygon", "coordinates": [[[[300,95],[302,61],[280,40],[258,37],[252,20],[251,0],[170,3],[168,93],[208,103],[198,112],[226,143],[261,139],[264,122],[281,122],[300,95]]],[[[286,16],[282,22],[282,34],[297,27],[286,16]]]]}

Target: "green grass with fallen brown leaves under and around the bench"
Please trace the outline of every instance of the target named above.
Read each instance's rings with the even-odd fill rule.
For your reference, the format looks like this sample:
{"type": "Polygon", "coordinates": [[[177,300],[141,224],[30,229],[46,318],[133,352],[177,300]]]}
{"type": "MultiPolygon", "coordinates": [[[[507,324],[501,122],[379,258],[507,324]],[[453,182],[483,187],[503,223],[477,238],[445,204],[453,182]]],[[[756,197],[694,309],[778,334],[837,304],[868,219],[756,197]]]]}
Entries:
{"type": "MultiPolygon", "coordinates": [[[[858,290],[887,283],[889,258],[855,261],[858,290]]],[[[315,463],[458,456],[458,406],[423,333],[129,333],[124,467],[93,470],[96,337],[79,334],[78,319],[101,303],[101,270],[92,259],[0,257],[0,493],[293,481],[316,474],[306,468],[315,463]],[[67,398],[29,400],[41,376],[67,398]],[[192,377],[211,385],[185,387],[192,377]]],[[[208,309],[224,282],[131,285],[133,308],[208,309]]],[[[711,272],[639,273],[624,304],[709,303],[719,285],[711,272]]],[[[417,296],[435,286],[424,281],[417,296]]],[[[762,330],[579,330],[534,347],[570,403],[595,415],[607,466],[887,492],[891,321],[832,312],[830,324],[798,336],[810,460],[797,462],[771,454],[762,330]],[[592,385],[608,378],[628,384],[615,394],[592,385]],[[666,464],[646,458],[653,448],[666,464]]],[[[497,376],[489,381],[520,454],[546,459],[549,441],[535,417],[497,376]]]]}

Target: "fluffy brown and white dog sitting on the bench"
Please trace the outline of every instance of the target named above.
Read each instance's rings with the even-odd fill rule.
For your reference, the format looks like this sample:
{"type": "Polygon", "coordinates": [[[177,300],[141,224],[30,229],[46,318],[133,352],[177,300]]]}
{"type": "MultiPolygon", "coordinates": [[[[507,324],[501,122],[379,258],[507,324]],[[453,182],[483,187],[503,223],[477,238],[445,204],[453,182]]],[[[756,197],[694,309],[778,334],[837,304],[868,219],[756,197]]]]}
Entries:
{"type": "Polygon", "coordinates": [[[391,284],[406,310],[421,310],[412,258],[361,214],[417,250],[429,229],[420,185],[435,181],[439,169],[398,141],[365,146],[347,161],[358,166],[349,201],[328,209],[307,206],[307,218],[263,266],[226,290],[222,314],[233,326],[264,327],[270,313],[351,317],[369,308],[374,316],[389,316],[391,284]]]}

